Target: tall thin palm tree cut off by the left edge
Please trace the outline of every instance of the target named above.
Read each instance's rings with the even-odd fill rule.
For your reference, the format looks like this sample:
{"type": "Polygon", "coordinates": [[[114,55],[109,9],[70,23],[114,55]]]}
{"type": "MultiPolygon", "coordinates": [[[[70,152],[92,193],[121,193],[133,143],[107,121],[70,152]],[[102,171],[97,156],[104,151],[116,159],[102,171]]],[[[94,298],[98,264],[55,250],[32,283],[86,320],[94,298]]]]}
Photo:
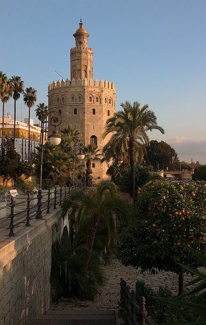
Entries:
{"type": "Polygon", "coordinates": [[[4,106],[10,100],[12,95],[12,85],[5,73],[0,71],[0,98],[2,100],[2,152],[4,152],[4,106]]]}

